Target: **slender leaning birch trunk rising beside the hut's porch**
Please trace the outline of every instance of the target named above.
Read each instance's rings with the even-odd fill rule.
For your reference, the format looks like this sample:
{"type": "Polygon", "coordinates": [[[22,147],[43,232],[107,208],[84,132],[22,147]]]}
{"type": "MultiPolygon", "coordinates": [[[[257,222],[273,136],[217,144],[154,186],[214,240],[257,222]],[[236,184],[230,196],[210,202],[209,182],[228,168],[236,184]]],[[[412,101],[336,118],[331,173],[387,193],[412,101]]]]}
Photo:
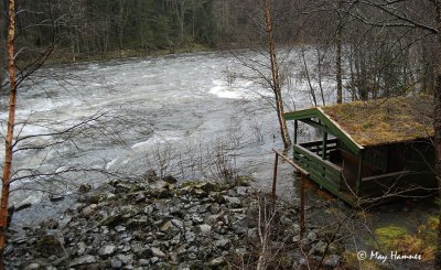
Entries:
{"type": "Polygon", "coordinates": [[[279,119],[280,126],[280,134],[282,137],[284,150],[288,150],[291,145],[291,139],[289,137],[287,121],[283,119],[283,99],[280,89],[280,79],[279,79],[279,66],[277,64],[276,56],[276,47],[275,40],[272,36],[272,23],[271,23],[271,12],[269,7],[269,0],[265,0],[265,24],[267,30],[267,39],[268,39],[268,48],[271,61],[271,75],[272,75],[272,91],[276,97],[276,108],[277,108],[277,117],[279,119]]]}

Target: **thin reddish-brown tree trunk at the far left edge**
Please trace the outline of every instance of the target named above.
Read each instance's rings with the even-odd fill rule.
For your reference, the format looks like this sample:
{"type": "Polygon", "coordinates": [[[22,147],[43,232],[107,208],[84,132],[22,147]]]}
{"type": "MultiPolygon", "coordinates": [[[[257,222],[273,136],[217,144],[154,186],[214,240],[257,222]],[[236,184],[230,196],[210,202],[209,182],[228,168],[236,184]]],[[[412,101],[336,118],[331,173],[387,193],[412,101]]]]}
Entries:
{"type": "Polygon", "coordinates": [[[1,186],[0,205],[0,269],[3,269],[3,250],[6,246],[6,230],[8,224],[9,184],[12,170],[12,140],[15,121],[17,82],[14,67],[14,35],[15,35],[15,1],[9,0],[9,28],[8,28],[8,68],[10,82],[9,118],[6,138],[3,177],[1,186]]]}

